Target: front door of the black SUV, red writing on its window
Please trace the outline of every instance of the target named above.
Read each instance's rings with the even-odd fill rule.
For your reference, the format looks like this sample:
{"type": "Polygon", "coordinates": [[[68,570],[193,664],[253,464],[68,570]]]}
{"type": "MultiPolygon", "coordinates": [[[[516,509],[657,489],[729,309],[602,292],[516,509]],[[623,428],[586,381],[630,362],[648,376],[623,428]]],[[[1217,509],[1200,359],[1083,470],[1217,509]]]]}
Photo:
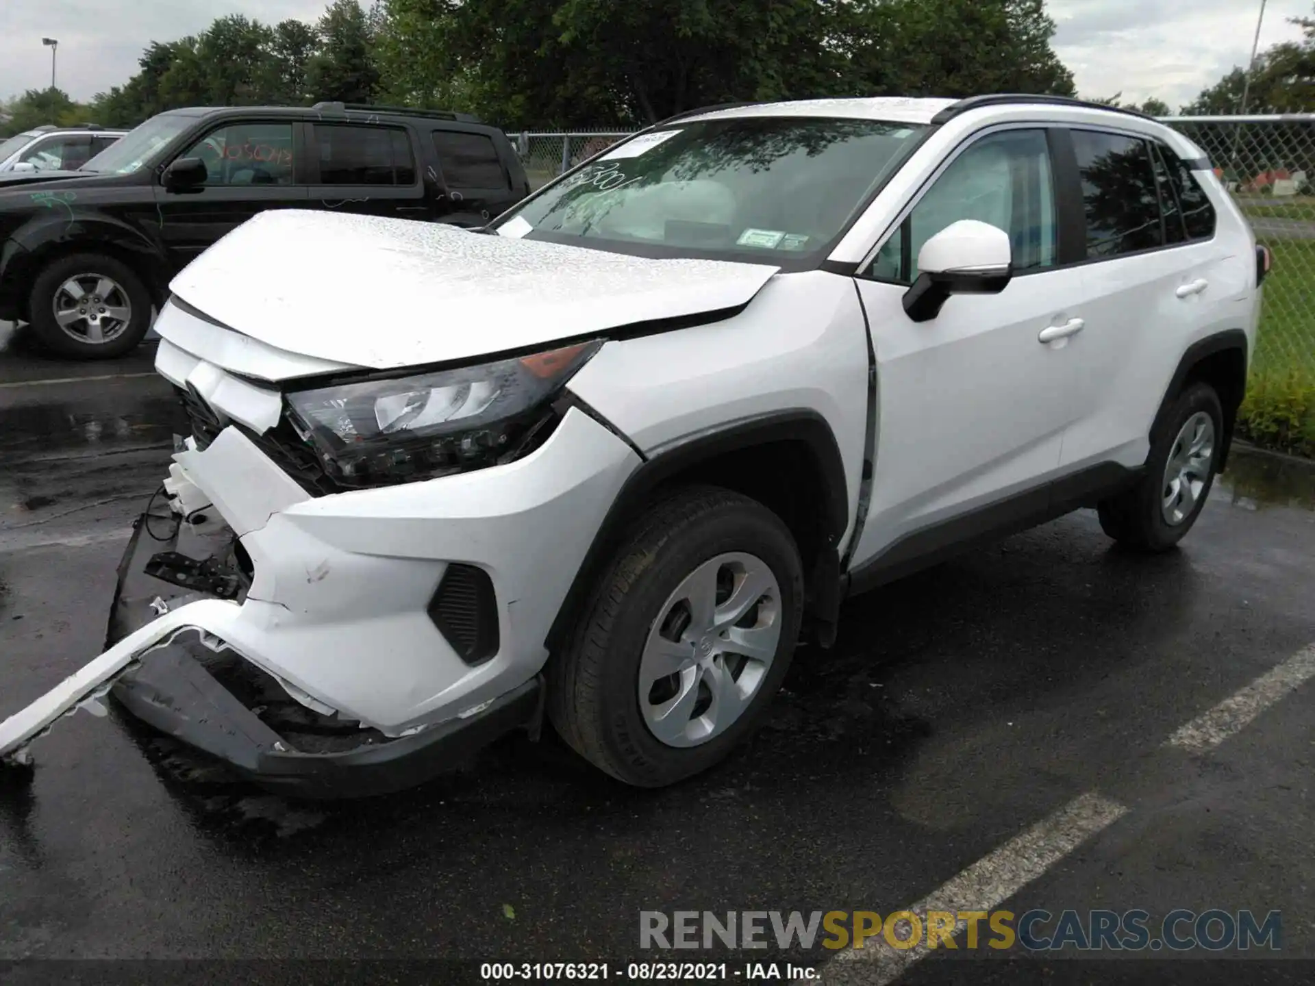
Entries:
{"type": "Polygon", "coordinates": [[[174,271],[258,212],[305,208],[301,156],[300,125],[291,120],[229,120],[174,155],[200,158],[208,172],[204,185],[185,191],[156,179],[159,237],[174,271]]]}

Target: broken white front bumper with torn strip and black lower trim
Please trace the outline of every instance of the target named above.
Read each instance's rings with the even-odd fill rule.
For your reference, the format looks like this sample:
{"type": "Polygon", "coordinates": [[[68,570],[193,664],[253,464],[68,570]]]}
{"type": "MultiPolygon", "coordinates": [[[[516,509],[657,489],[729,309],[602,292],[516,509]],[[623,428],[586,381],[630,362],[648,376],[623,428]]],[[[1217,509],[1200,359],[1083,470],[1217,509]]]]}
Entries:
{"type": "Polygon", "coordinates": [[[108,649],[0,723],[0,760],[109,689],[302,797],[412,786],[534,730],[548,627],[634,459],[572,409],[515,463],[313,496],[234,427],[188,442],[125,552],[108,649]]]}

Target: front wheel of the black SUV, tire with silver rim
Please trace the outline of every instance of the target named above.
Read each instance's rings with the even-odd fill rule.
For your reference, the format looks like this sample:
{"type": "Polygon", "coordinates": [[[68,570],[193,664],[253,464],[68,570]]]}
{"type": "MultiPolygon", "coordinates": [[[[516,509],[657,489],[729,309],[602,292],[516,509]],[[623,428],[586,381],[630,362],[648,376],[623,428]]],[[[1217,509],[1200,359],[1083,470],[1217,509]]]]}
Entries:
{"type": "Polygon", "coordinates": [[[104,254],[71,254],[46,264],[37,275],[28,319],[37,340],[51,352],[74,359],[112,359],[135,348],[151,327],[151,294],[122,260],[104,254]],[[78,304],[66,289],[70,284],[84,291],[82,300],[87,304],[78,304]],[[110,285],[107,297],[93,293],[97,285],[110,285]],[[76,321],[68,329],[60,326],[57,309],[74,314],[76,321]],[[126,318],[114,318],[116,312],[126,318]],[[103,337],[107,326],[112,333],[103,342],[95,338],[97,326],[103,337]]]}

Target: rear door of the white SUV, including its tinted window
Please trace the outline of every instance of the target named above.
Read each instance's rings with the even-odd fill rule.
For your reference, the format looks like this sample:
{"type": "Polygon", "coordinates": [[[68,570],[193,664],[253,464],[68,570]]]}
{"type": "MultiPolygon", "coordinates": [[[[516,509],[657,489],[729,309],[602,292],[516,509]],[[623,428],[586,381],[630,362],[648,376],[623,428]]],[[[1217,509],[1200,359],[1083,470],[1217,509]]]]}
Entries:
{"type": "Polygon", "coordinates": [[[1066,387],[1077,413],[1060,463],[1065,472],[1107,461],[1136,467],[1178,356],[1224,288],[1211,275],[1220,247],[1212,216],[1189,196],[1184,176],[1199,187],[1169,149],[1135,133],[1065,133],[1073,155],[1068,195],[1086,250],[1086,327],[1073,340],[1078,360],[1066,387]]]}

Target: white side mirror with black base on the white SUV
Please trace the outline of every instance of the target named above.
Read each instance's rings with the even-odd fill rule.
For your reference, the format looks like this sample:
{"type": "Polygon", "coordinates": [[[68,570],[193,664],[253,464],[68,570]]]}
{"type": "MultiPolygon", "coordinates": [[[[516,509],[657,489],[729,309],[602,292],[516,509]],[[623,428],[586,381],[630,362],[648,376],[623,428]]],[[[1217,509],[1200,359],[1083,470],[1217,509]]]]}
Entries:
{"type": "Polygon", "coordinates": [[[905,292],[905,313],[928,322],[951,294],[998,294],[1014,276],[1013,264],[1005,230],[977,220],[952,222],[918,251],[918,280],[905,292]]]}

